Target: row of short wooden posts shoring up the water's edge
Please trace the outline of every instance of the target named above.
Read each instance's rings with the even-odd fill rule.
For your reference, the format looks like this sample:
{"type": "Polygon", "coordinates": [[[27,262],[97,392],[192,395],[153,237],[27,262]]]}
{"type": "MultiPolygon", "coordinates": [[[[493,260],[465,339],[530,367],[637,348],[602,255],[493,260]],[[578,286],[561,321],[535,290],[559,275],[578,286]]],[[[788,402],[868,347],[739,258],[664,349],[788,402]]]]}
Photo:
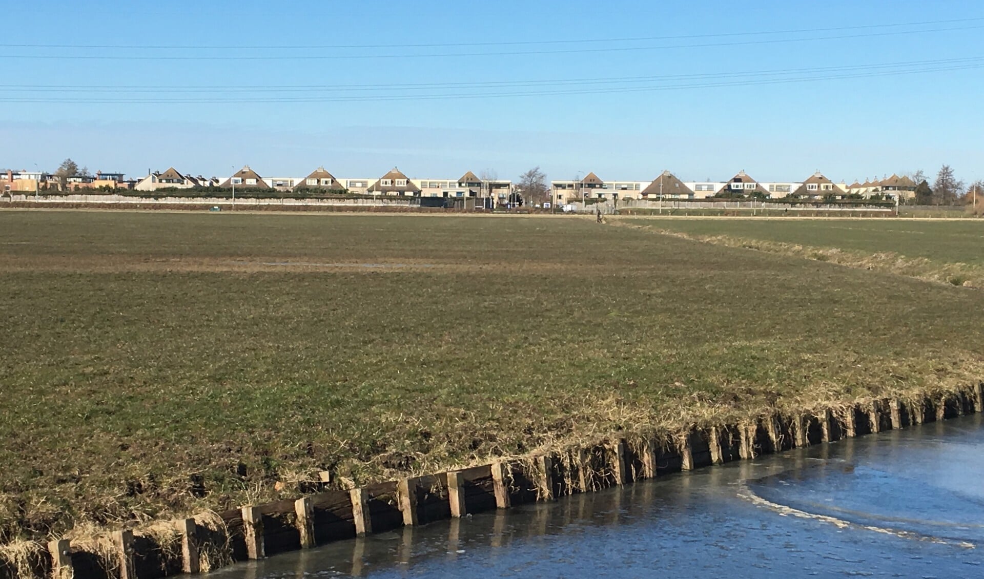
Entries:
{"type": "MultiPolygon", "coordinates": [[[[734,459],[750,460],[759,454],[786,448],[803,448],[818,441],[901,429],[929,420],[945,420],[971,412],[984,412],[984,382],[962,392],[925,397],[914,402],[876,399],[836,412],[824,409],[815,415],[769,415],[743,425],[694,429],[678,436],[668,434],[582,447],[562,455],[543,454],[527,461],[500,460],[439,475],[406,478],[399,482],[370,485],[348,491],[327,491],[266,505],[246,505],[222,513],[228,527],[227,541],[233,558],[260,559],[282,550],[311,549],[344,537],[362,537],[408,528],[440,518],[460,519],[473,510],[510,508],[529,500],[554,500],[560,494],[591,492],[624,486],[637,479],[690,471],[734,459]],[[570,460],[568,460],[568,458],[570,460]],[[561,484],[567,482],[567,486],[561,484]],[[292,547],[291,547],[292,545],[292,547]]],[[[331,481],[319,473],[321,485],[331,481]]],[[[323,491],[325,486],[319,487],[323,491]]],[[[174,522],[180,539],[180,569],[202,569],[202,545],[215,545],[215,531],[196,525],[195,519],[174,522]],[[210,536],[213,533],[213,536],[210,536]],[[203,543],[204,542],[204,543],[203,543]]],[[[225,531],[222,531],[225,533],[225,531]]],[[[107,574],[120,579],[139,579],[134,533],[117,531],[110,537],[117,559],[107,574]]],[[[138,538],[136,541],[146,541],[138,538]]],[[[144,547],[140,548],[143,552],[144,547]]],[[[76,576],[72,546],[68,540],[47,544],[50,576],[76,576]]],[[[355,568],[353,555],[353,569],[355,568]]],[[[171,568],[177,567],[177,562],[171,568]]],[[[210,561],[214,564],[215,561],[210,561]]],[[[361,564],[361,563],[359,563],[361,564]]]]}

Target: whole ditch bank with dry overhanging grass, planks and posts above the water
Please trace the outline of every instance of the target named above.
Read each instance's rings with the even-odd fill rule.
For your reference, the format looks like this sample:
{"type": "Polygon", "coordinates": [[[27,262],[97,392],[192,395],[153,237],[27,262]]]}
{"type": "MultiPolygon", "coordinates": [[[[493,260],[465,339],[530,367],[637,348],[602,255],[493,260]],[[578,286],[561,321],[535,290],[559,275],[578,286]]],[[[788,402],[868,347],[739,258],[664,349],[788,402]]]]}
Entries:
{"type": "Polygon", "coordinates": [[[311,488],[310,493],[290,499],[109,534],[2,546],[0,578],[154,579],[207,572],[402,526],[595,492],[982,411],[984,383],[978,383],[942,394],[775,413],[742,424],[648,437],[613,436],[587,446],[363,488],[311,488]]]}

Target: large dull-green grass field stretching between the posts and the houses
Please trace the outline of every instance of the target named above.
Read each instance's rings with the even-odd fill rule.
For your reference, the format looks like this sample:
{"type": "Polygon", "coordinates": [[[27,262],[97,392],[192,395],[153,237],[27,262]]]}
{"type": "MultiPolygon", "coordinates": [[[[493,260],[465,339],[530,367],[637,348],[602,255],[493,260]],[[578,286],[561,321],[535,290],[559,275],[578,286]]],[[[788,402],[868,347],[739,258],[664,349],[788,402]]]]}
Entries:
{"type": "Polygon", "coordinates": [[[963,385],[982,296],[577,217],[0,211],[0,539],[963,385]]]}

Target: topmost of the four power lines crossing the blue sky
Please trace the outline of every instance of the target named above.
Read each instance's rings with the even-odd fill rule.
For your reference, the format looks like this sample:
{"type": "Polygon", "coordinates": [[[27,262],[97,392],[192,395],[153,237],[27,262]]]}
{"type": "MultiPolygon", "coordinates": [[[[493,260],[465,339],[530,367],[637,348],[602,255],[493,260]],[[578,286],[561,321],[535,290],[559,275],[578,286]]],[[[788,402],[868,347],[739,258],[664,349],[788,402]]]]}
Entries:
{"type": "MultiPolygon", "coordinates": [[[[471,46],[517,46],[517,45],[547,45],[547,44],[571,44],[571,43],[593,43],[593,42],[640,42],[651,40],[681,40],[693,38],[720,38],[728,36],[746,36],[749,34],[797,34],[806,32],[830,32],[834,30],[861,30],[861,29],[889,29],[900,27],[922,27],[931,25],[945,25],[968,22],[984,21],[981,18],[963,18],[953,20],[934,20],[908,23],[887,23],[878,25],[859,25],[853,27],[830,27],[818,29],[785,29],[785,30],[759,30],[741,32],[714,32],[709,34],[686,34],[674,36],[629,36],[616,38],[576,38],[576,39],[555,39],[555,40],[512,40],[497,42],[468,42],[471,46]]],[[[125,48],[132,50],[308,50],[308,49],[357,49],[357,48],[448,48],[460,46],[460,42],[430,42],[430,43],[406,43],[400,44],[282,44],[282,45],[206,45],[206,44],[38,44],[38,43],[0,43],[0,48],[79,48],[79,49],[114,49],[125,48]]]]}

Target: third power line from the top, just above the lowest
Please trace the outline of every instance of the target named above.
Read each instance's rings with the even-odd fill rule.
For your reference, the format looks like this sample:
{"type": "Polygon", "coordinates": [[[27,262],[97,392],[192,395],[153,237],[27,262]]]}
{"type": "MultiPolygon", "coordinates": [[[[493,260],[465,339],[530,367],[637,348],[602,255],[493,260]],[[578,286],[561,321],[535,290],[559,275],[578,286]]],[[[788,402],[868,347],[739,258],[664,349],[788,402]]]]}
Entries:
{"type": "Polygon", "coordinates": [[[414,83],[414,84],[373,84],[371,86],[362,85],[281,85],[265,87],[229,87],[229,86],[199,86],[199,87],[172,87],[172,86],[76,86],[76,85],[0,85],[0,92],[68,92],[68,93],[236,93],[236,92],[292,92],[292,91],[381,91],[381,90],[434,90],[440,88],[508,88],[508,87],[538,87],[538,86],[590,86],[606,85],[616,83],[651,83],[665,81],[685,81],[685,80],[717,80],[742,77],[769,77],[776,75],[791,74],[821,74],[835,72],[863,72],[879,71],[884,69],[898,69],[913,67],[934,67],[942,65],[961,65],[984,62],[984,56],[972,56],[964,58],[949,58],[935,60],[917,60],[888,63],[869,63],[856,65],[840,65],[830,67],[811,67],[811,68],[790,68],[790,69],[767,69],[752,71],[730,71],[721,73],[691,73],[682,75],[647,75],[638,77],[595,77],[582,79],[535,79],[521,81],[480,81],[480,82],[445,82],[445,83],[414,83]]]}

